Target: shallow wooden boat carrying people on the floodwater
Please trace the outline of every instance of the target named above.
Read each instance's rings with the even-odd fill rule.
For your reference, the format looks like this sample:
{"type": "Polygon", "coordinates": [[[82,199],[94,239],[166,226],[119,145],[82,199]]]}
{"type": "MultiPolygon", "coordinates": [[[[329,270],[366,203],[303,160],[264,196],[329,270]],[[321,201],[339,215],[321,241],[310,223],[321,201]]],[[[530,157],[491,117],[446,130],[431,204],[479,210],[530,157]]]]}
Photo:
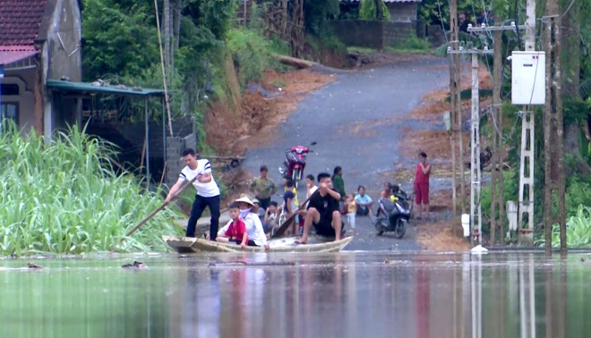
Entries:
{"type": "Polygon", "coordinates": [[[329,241],[318,236],[310,236],[312,241],[309,244],[295,244],[297,237],[280,238],[270,240],[270,250],[265,251],[262,247],[243,248],[234,243],[222,243],[218,241],[207,241],[202,238],[162,236],[168,246],[178,253],[190,252],[338,252],[344,249],[353,237],[345,237],[339,241],[329,241]]]}

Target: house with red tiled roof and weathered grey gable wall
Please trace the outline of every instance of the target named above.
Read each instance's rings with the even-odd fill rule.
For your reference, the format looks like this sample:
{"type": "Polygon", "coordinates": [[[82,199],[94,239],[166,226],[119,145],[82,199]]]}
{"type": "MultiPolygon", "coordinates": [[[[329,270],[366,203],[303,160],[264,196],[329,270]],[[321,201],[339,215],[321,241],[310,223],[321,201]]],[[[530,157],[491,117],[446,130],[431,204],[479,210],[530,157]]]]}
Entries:
{"type": "Polygon", "coordinates": [[[50,137],[76,123],[81,102],[47,80],[81,80],[80,0],[0,0],[0,118],[50,137]]]}

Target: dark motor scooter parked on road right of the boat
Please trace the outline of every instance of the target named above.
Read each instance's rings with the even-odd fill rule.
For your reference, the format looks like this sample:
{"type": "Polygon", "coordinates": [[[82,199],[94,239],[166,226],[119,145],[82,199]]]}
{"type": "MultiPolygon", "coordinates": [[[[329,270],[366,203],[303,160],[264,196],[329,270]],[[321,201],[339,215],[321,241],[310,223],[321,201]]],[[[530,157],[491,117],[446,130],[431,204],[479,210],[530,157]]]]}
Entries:
{"type": "Polygon", "coordinates": [[[378,199],[378,212],[372,216],[375,232],[381,236],[384,232],[394,232],[401,239],[407,232],[407,224],[412,212],[412,197],[397,185],[390,185],[390,199],[378,199]]]}

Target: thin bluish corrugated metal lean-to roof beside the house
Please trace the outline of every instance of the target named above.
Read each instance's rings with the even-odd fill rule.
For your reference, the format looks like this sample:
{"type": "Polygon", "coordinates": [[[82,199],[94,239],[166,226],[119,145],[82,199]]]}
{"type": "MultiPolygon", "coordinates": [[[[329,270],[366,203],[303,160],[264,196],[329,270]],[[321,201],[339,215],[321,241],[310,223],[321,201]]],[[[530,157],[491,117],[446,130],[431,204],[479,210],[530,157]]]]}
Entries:
{"type": "Polygon", "coordinates": [[[164,96],[164,89],[142,89],[125,86],[95,86],[87,82],[71,82],[66,80],[47,80],[47,88],[85,94],[102,93],[134,97],[164,96]]]}

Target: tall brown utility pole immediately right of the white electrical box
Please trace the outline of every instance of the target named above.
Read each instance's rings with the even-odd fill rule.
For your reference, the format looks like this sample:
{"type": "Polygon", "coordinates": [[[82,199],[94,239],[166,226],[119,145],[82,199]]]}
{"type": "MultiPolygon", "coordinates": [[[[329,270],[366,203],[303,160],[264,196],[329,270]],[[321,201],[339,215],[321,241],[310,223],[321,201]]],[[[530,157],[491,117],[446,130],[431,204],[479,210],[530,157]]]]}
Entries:
{"type": "MultiPolygon", "coordinates": [[[[559,4],[546,0],[544,44],[546,54],[546,105],[544,107],[544,230],[546,253],[552,253],[552,224],[561,227],[561,252],[566,252],[566,177],[561,88],[561,37],[559,4]],[[555,194],[558,214],[552,213],[555,194]]],[[[578,55],[572,55],[578,57],[578,55]]]]}

